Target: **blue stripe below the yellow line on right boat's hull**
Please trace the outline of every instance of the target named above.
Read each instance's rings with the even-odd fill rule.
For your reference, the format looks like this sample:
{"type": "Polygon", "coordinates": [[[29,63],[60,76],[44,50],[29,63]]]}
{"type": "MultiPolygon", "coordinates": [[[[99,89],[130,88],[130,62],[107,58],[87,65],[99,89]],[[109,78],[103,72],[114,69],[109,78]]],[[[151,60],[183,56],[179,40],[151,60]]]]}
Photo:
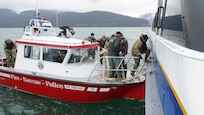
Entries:
{"type": "Polygon", "coordinates": [[[162,69],[155,55],[153,56],[153,61],[156,69],[156,82],[157,82],[158,92],[161,99],[164,114],[183,115],[182,110],[171,90],[170,85],[167,82],[166,76],[162,72],[162,69]]]}

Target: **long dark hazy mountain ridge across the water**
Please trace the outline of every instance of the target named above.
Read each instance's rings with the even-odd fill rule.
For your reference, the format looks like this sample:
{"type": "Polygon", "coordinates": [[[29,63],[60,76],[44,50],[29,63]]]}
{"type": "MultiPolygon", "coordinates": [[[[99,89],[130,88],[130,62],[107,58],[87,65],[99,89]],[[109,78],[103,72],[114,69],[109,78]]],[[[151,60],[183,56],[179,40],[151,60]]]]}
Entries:
{"type": "MultiPolygon", "coordinates": [[[[0,9],[0,27],[24,27],[31,18],[34,11],[27,10],[17,14],[9,9],[0,9]]],[[[92,11],[86,13],[56,12],[52,10],[40,10],[40,16],[49,19],[53,26],[69,25],[72,27],[144,27],[149,26],[145,19],[133,18],[120,14],[104,11],[92,11]],[[58,17],[58,19],[56,18],[58,17]]]]}

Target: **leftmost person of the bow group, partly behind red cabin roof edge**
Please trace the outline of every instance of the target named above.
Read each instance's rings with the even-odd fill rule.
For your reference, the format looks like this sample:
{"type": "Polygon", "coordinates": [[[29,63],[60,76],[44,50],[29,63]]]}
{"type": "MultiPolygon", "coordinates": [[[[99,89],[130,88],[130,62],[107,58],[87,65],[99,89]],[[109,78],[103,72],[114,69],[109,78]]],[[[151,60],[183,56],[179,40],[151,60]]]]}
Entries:
{"type": "MultiPolygon", "coordinates": [[[[94,37],[94,33],[91,33],[91,36],[89,36],[88,38],[85,38],[85,40],[88,40],[91,43],[96,42],[96,38],[94,37]]],[[[95,57],[96,57],[96,48],[89,49],[88,54],[92,56],[92,59],[95,59],[95,57]]]]}

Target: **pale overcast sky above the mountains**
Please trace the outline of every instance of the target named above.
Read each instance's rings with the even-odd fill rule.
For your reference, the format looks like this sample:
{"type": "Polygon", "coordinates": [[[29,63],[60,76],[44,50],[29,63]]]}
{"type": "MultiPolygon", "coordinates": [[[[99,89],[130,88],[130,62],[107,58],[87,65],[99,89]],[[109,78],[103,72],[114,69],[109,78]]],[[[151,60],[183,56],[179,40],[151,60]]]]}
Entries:
{"type": "Polygon", "coordinates": [[[48,9],[56,11],[108,11],[131,17],[155,13],[157,0],[0,0],[0,8],[20,13],[25,10],[48,9]]]}

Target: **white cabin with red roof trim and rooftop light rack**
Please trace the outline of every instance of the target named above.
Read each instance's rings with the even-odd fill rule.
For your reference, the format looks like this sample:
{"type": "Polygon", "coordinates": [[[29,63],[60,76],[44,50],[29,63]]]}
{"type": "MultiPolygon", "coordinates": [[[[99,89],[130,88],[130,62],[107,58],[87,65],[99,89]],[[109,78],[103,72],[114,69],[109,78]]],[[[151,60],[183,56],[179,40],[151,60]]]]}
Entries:
{"type": "Polygon", "coordinates": [[[99,44],[67,38],[62,34],[58,36],[45,18],[32,19],[25,27],[22,39],[16,40],[14,69],[62,79],[100,76],[102,71],[93,72],[93,69],[101,65],[90,55],[99,44]]]}

